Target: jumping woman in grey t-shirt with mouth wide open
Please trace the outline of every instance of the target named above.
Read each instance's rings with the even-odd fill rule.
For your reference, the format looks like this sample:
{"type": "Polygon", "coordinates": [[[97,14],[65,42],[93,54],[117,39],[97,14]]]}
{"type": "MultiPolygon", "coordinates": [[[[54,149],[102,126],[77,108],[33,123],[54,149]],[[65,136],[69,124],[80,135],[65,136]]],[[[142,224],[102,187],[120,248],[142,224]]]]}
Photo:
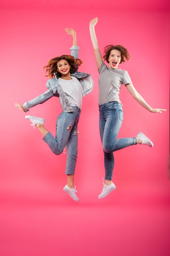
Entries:
{"type": "Polygon", "coordinates": [[[166,110],[151,108],[132,85],[128,72],[118,68],[119,63],[124,62],[125,59],[127,61],[129,59],[129,53],[126,47],[122,45],[106,46],[103,57],[104,61],[109,63],[109,67],[103,62],[95,34],[97,21],[97,18],[91,20],[90,34],[99,71],[99,131],[104,150],[105,165],[105,182],[103,182],[104,187],[102,193],[98,196],[100,199],[104,198],[116,188],[112,182],[114,168],[113,152],[135,144],[153,146],[152,141],[142,132],[139,132],[137,137],[117,139],[123,121],[123,110],[119,99],[121,85],[124,84],[132,97],[150,112],[161,113],[166,110]]]}

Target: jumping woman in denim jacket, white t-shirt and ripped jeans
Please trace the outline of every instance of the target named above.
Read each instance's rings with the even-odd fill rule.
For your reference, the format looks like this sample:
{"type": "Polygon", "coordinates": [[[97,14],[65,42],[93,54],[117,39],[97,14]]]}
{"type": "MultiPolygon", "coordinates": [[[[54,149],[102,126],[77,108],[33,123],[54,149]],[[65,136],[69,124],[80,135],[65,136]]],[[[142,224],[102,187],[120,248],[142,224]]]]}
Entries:
{"type": "Polygon", "coordinates": [[[32,126],[37,127],[43,135],[43,140],[49,145],[52,152],[60,155],[64,147],[67,148],[66,175],[67,184],[64,191],[76,202],[79,201],[74,187],[74,173],[77,159],[77,125],[82,107],[82,97],[93,88],[93,80],[89,74],[77,72],[77,67],[82,64],[78,59],[78,49],[76,33],[73,29],[65,29],[67,34],[73,36],[73,46],[71,55],[62,55],[55,57],[44,67],[48,73],[49,80],[46,83],[48,90],[31,101],[22,105],[15,103],[15,107],[24,112],[29,108],[44,103],[53,96],[59,97],[62,106],[62,113],[57,118],[56,136],[46,130],[44,119],[33,116],[25,118],[32,122],[32,126]]]}

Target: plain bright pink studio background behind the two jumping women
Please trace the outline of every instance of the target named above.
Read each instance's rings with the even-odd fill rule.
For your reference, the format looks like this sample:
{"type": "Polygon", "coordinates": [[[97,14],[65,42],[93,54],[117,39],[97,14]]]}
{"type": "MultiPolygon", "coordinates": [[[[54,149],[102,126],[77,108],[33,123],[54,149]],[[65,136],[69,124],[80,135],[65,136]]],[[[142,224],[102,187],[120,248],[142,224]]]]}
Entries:
{"type": "MultiPolygon", "coordinates": [[[[1,168],[0,256],[166,256],[170,251],[169,81],[170,4],[168,0],[135,3],[122,0],[7,0],[0,3],[1,168]],[[117,189],[103,200],[104,161],[98,128],[98,72],[89,36],[89,21],[99,18],[101,50],[125,45],[127,69],[139,93],[153,108],[142,108],[124,85],[124,122],[119,137],[144,132],[153,148],[132,146],[115,153],[113,182],[117,189]],[[66,155],[54,155],[38,130],[14,103],[24,103],[46,90],[42,67],[69,54],[73,27],[84,62],[79,70],[95,82],[84,97],[79,121],[75,185],[79,203],[62,188],[66,155]]],[[[29,115],[46,119],[55,135],[61,107],[52,98],[29,115]]]]}

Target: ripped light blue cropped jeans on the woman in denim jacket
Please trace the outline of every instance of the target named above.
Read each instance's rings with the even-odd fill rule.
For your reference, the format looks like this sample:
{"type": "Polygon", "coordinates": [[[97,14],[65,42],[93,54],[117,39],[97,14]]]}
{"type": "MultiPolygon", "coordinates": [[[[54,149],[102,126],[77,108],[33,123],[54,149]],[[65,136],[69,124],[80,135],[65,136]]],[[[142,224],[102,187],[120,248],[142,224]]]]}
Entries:
{"type": "Polygon", "coordinates": [[[49,145],[52,152],[60,155],[67,147],[66,174],[74,175],[77,160],[78,121],[81,110],[73,106],[73,112],[62,112],[57,118],[55,138],[48,132],[43,140],[49,145]]]}

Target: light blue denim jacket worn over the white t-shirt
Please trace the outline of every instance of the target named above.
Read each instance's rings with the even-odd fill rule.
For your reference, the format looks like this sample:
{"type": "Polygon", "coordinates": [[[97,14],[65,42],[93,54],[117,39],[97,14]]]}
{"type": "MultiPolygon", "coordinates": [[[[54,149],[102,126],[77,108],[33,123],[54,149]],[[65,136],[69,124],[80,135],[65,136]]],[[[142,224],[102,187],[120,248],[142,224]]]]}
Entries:
{"type": "MultiPolygon", "coordinates": [[[[74,56],[74,58],[78,58],[79,47],[72,46],[70,50],[71,55],[74,56]]],[[[32,99],[31,101],[25,102],[23,104],[25,112],[29,111],[29,108],[32,108],[33,106],[44,103],[53,96],[59,97],[63,112],[73,112],[73,108],[68,101],[65,92],[62,90],[62,87],[56,77],[56,73],[54,75],[55,77],[49,79],[46,83],[46,87],[48,90],[46,90],[43,94],[40,94],[35,99],[32,99]]],[[[71,74],[71,76],[75,76],[81,83],[83,89],[82,97],[92,91],[94,83],[90,74],[77,71],[74,74],[71,74]]]]}

